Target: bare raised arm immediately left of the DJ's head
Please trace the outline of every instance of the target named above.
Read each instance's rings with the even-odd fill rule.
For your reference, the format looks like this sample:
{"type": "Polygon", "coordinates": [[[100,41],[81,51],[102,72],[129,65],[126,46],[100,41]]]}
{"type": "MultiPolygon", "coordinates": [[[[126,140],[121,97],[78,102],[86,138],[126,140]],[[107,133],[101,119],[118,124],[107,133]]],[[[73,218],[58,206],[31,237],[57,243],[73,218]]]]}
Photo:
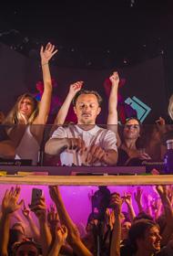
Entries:
{"type": "Polygon", "coordinates": [[[76,95],[77,91],[80,91],[83,85],[83,81],[76,81],[76,83],[73,83],[70,85],[68,94],[66,96],[66,100],[62,104],[60,110],[57,112],[56,120],[54,124],[64,124],[66,120],[66,115],[69,110],[70,104],[73,100],[73,98],[76,95]]]}

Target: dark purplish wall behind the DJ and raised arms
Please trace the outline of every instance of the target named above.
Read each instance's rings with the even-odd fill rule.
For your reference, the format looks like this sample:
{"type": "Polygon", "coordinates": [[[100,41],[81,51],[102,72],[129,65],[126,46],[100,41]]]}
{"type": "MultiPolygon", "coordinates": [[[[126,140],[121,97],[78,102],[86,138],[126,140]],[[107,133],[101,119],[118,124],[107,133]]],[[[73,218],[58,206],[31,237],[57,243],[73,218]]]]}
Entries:
{"type": "MultiPolygon", "coordinates": [[[[0,67],[0,109],[8,112],[17,96],[26,91],[36,92],[36,82],[42,80],[42,72],[37,59],[26,58],[3,44],[0,44],[0,67]]],[[[86,89],[96,90],[102,95],[104,104],[99,122],[106,123],[107,96],[103,82],[111,72],[112,69],[70,69],[51,65],[52,77],[57,82],[54,93],[63,101],[69,85],[76,80],[84,80],[86,89]]],[[[134,67],[122,68],[120,74],[126,79],[126,84],[119,90],[123,98],[126,100],[136,96],[151,108],[145,123],[153,123],[160,115],[167,113],[167,87],[162,57],[147,60],[134,67]]]]}

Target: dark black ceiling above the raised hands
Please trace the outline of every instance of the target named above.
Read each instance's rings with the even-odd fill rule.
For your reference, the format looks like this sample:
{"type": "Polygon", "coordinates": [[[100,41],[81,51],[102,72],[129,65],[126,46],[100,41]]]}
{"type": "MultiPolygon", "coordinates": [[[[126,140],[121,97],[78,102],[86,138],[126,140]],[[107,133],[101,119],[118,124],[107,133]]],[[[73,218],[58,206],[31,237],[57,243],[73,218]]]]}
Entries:
{"type": "Polygon", "coordinates": [[[173,42],[172,2],[5,2],[0,8],[0,40],[30,56],[41,43],[51,41],[59,48],[61,66],[134,65],[164,55],[173,42]]]}

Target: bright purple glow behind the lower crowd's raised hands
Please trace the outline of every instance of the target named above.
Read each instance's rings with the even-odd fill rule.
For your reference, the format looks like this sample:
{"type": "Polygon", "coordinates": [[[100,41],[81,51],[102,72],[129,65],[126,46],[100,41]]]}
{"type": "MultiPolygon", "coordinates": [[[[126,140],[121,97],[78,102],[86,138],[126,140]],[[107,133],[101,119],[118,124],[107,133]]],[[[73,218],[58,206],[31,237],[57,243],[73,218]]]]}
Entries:
{"type": "MultiPolygon", "coordinates": [[[[0,185],[0,201],[2,202],[2,198],[4,197],[5,190],[9,189],[11,186],[0,185]]],[[[27,207],[28,204],[31,202],[31,192],[34,186],[21,186],[21,196],[20,199],[24,198],[25,206],[27,207]]],[[[36,187],[36,186],[35,186],[36,187]]],[[[37,186],[37,188],[43,189],[44,195],[46,197],[46,205],[47,208],[52,204],[52,200],[49,197],[48,187],[46,186],[37,186]]],[[[91,212],[91,202],[89,199],[89,194],[95,193],[97,187],[90,187],[90,186],[62,186],[60,187],[61,195],[63,197],[64,203],[66,205],[66,209],[70,214],[70,217],[74,220],[74,222],[78,225],[86,226],[86,220],[88,215],[91,212]]],[[[137,187],[108,187],[110,192],[118,192],[121,196],[123,196],[124,192],[129,192],[133,195],[133,193],[137,190],[137,187]]],[[[157,197],[157,194],[153,187],[151,186],[144,186],[143,195],[151,195],[152,197],[157,197]]],[[[137,211],[137,205],[132,197],[133,205],[135,210],[137,211]]],[[[143,200],[144,201],[144,200],[143,200]]],[[[127,207],[123,205],[123,211],[127,211],[127,207]]]]}

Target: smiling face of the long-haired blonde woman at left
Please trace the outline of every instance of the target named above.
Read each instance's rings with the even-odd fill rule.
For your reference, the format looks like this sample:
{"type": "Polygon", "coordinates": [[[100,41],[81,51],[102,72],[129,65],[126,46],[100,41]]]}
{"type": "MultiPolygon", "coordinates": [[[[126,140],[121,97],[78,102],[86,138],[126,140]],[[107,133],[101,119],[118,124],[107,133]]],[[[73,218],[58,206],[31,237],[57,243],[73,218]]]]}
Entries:
{"type": "Polygon", "coordinates": [[[23,98],[21,101],[18,103],[18,111],[25,115],[25,117],[28,119],[31,114],[34,112],[34,103],[31,99],[29,98],[23,98]]]}

